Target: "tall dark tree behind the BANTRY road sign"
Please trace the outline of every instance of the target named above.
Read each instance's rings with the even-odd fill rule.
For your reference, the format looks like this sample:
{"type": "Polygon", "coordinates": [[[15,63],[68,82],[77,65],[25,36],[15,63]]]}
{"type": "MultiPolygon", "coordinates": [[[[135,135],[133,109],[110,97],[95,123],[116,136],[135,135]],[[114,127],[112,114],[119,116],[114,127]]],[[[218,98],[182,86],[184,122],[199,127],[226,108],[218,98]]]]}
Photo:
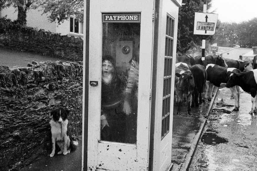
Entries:
{"type": "MultiPolygon", "coordinates": [[[[191,41],[201,45],[202,36],[193,34],[195,12],[202,12],[206,0],[182,0],[182,6],[178,12],[178,41],[177,51],[185,52],[191,41]]],[[[207,10],[211,6],[211,0],[207,1],[207,10]]],[[[205,37],[211,40],[212,36],[205,37]]]]}

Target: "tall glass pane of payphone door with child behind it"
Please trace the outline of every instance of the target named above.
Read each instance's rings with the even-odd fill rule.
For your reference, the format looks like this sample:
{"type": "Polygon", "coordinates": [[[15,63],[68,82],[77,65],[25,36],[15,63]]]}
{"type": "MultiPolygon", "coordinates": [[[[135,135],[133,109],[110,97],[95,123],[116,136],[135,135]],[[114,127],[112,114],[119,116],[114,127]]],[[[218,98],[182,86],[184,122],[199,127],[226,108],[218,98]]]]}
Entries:
{"type": "Polygon", "coordinates": [[[140,23],[103,22],[101,140],[136,144],[140,23]]]}

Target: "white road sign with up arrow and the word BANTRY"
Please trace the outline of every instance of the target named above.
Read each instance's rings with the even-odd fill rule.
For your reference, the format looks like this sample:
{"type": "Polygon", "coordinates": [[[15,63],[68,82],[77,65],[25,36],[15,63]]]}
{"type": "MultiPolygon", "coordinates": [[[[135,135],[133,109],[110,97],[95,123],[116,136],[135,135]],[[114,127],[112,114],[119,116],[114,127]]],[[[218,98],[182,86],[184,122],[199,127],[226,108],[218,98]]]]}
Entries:
{"type": "Polygon", "coordinates": [[[195,13],[194,34],[213,35],[218,21],[218,14],[195,13]]]}

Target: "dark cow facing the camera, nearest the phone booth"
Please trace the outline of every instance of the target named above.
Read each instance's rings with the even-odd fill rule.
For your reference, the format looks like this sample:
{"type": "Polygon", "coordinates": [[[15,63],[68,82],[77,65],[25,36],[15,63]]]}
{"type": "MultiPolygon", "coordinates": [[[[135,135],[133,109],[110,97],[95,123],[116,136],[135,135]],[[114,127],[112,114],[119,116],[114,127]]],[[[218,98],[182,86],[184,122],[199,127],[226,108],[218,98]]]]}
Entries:
{"type": "Polygon", "coordinates": [[[192,92],[195,87],[193,74],[190,70],[182,67],[175,68],[175,93],[178,97],[178,110],[177,114],[181,115],[180,107],[182,105],[182,101],[187,102],[187,111],[189,115],[192,115],[191,106],[190,106],[190,98],[192,92]]]}

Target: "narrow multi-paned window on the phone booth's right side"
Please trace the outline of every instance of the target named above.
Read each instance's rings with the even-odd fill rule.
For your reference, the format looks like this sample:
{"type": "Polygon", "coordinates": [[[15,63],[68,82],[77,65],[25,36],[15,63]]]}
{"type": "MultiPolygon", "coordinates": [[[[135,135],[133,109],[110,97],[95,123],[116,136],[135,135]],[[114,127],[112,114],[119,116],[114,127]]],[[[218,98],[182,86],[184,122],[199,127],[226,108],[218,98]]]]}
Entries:
{"type": "Polygon", "coordinates": [[[170,131],[170,100],[171,100],[171,71],[174,40],[174,18],[167,15],[166,39],[164,56],[164,77],[162,95],[162,137],[163,139],[170,131]]]}

